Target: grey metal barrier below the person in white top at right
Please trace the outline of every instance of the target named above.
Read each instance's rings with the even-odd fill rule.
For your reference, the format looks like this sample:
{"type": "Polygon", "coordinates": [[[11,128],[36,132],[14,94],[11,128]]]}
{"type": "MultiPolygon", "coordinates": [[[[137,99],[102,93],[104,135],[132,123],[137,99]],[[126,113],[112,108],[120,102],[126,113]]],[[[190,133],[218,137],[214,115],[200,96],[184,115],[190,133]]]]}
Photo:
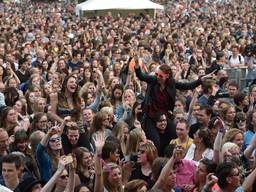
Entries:
{"type": "Polygon", "coordinates": [[[235,81],[240,90],[247,86],[247,67],[224,68],[224,70],[228,73],[229,80],[235,81]]]}

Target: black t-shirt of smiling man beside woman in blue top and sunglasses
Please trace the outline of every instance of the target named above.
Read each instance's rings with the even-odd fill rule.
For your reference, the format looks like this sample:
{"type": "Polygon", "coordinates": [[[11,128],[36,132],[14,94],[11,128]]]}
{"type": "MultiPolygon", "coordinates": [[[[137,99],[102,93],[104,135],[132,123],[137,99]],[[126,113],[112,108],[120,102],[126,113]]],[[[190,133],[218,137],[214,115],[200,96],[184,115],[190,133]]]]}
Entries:
{"type": "Polygon", "coordinates": [[[61,135],[61,141],[62,141],[62,148],[64,150],[65,155],[72,153],[78,147],[86,147],[88,150],[91,151],[89,137],[85,133],[80,133],[80,137],[75,146],[71,145],[68,139],[68,136],[66,134],[61,135]]]}

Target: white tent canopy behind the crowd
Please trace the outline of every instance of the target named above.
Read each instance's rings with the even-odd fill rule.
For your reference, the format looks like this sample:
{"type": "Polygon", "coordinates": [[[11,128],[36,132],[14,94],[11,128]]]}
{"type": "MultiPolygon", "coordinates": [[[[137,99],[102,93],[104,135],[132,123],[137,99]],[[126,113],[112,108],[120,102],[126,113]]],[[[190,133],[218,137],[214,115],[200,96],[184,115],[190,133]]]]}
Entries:
{"type": "Polygon", "coordinates": [[[141,9],[155,10],[164,9],[164,7],[150,0],[88,0],[76,6],[76,14],[79,15],[81,11],[141,9]]]}

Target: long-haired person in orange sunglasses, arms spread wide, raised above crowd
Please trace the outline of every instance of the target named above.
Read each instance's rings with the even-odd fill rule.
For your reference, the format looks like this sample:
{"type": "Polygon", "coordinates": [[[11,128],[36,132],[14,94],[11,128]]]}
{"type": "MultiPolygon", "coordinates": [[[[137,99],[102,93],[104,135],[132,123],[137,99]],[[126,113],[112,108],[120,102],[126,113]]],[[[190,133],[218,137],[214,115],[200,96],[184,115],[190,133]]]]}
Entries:
{"type": "Polygon", "coordinates": [[[173,79],[171,68],[167,64],[160,65],[155,75],[145,74],[139,66],[139,59],[135,57],[135,72],[139,80],[148,83],[145,99],[143,102],[144,118],[142,127],[145,130],[148,139],[152,140],[157,148],[160,145],[160,138],[155,128],[156,114],[162,112],[168,115],[173,111],[176,97],[176,89],[188,90],[194,89],[202,84],[202,80],[212,75],[208,74],[190,83],[179,83],[173,79]]]}

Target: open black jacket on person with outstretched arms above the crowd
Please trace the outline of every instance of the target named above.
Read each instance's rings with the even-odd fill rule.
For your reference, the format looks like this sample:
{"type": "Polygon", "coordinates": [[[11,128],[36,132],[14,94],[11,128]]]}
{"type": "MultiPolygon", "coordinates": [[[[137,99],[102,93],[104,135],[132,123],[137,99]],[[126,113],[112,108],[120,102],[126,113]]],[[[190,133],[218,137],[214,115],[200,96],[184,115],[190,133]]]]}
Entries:
{"type": "MultiPolygon", "coordinates": [[[[153,98],[156,97],[160,84],[158,83],[157,78],[155,76],[143,73],[140,68],[135,68],[135,72],[139,80],[145,81],[148,83],[145,99],[143,102],[143,111],[147,113],[148,107],[151,105],[153,98]]],[[[169,80],[166,86],[166,91],[169,95],[169,100],[167,103],[169,111],[173,111],[173,108],[174,108],[176,89],[180,89],[180,90],[194,89],[200,84],[202,84],[201,79],[198,79],[190,83],[179,83],[179,82],[175,82],[174,79],[169,80]]]]}

